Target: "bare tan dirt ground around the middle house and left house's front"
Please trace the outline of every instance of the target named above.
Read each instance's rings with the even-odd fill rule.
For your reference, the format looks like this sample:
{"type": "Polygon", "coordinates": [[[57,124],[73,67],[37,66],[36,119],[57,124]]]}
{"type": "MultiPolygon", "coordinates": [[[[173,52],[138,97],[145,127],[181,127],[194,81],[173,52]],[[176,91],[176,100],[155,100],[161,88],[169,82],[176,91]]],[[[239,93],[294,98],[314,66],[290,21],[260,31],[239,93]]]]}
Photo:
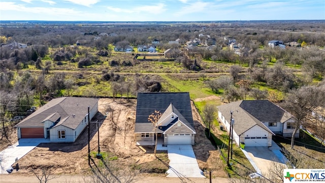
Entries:
{"type": "MultiPolygon", "coordinates": [[[[223,164],[218,151],[215,150],[204,134],[205,127],[202,126],[201,117],[192,103],[194,128],[197,131],[195,138],[196,145],[193,146],[199,166],[201,169],[214,169],[214,177],[225,177],[223,164]]],[[[163,163],[155,160],[153,148],[147,147],[145,151],[135,145],[134,123],[136,114],[136,100],[126,101],[124,99],[100,99],[99,113],[95,115],[90,124],[90,148],[91,153],[98,151],[98,129],[96,119],[100,121],[100,150],[109,156],[117,156],[120,166],[137,165],[144,172],[142,176],[149,176],[148,173],[156,172],[156,167],[161,170],[168,169],[163,163]],[[113,116],[108,112],[107,106],[113,109],[113,116]],[[107,117],[106,117],[107,116],[107,117]],[[152,170],[150,170],[150,168],[152,170]]],[[[26,156],[19,160],[19,171],[15,174],[31,175],[31,170],[39,167],[54,167],[55,174],[83,174],[89,171],[88,166],[88,131],[74,143],[43,143],[31,150],[26,156]]],[[[1,148],[6,146],[1,144],[1,148]]],[[[166,156],[161,154],[161,156],[166,156]]],[[[167,159],[167,158],[166,158],[167,159]]],[[[167,159],[168,162],[168,159],[167,159]]],[[[157,173],[157,172],[156,172],[157,173]]],[[[160,172],[164,173],[164,172],[160,172]]],[[[165,174],[155,174],[165,176],[165,174]]]]}

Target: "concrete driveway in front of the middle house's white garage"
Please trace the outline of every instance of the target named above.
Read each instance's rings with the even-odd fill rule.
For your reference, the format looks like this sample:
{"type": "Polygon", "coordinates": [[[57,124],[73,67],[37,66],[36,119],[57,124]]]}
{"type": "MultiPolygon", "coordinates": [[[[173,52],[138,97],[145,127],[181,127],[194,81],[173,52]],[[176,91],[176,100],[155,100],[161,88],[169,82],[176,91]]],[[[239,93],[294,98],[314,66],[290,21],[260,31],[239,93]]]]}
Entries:
{"type": "Polygon", "coordinates": [[[168,145],[170,169],[167,177],[197,177],[205,178],[191,145],[168,145]]]}

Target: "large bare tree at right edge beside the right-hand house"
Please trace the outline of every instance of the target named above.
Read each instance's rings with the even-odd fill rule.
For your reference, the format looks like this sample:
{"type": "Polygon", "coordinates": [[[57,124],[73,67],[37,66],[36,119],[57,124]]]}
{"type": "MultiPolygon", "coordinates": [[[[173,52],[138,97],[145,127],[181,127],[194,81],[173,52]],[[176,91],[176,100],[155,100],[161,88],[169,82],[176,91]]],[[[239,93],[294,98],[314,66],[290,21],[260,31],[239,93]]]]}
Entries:
{"type": "Polygon", "coordinates": [[[291,137],[291,148],[294,148],[296,132],[301,126],[305,126],[310,114],[317,107],[325,107],[325,90],[315,86],[303,86],[297,90],[291,90],[287,96],[283,108],[296,117],[295,130],[291,137]]]}

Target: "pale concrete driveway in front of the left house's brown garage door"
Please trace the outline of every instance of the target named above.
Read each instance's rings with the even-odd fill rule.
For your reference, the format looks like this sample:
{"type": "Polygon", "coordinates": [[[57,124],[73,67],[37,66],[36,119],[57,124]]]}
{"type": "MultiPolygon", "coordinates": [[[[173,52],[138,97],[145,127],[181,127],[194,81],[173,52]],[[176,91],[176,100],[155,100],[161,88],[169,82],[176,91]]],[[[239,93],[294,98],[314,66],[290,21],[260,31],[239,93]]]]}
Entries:
{"type": "Polygon", "coordinates": [[[40,143],[47,143],[49,139],[19,139],[18,142],[0,152],[0,174],[8,174],[6,171],[18,160],[25,156],[30,150],[40,143]]]}

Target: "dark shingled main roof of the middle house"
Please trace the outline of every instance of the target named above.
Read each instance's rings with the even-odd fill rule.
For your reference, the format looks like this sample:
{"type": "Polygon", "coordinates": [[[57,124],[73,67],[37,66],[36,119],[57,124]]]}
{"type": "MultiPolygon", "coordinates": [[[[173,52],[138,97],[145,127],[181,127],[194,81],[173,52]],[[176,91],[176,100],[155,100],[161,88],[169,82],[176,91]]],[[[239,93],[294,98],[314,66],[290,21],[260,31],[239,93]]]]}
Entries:
{"type": "MultiPolygon", "coordinates": [[[[143,131],[145,126],[151,126],[153,129],[150,121],[148,121],[148,116],[152,114],[154,110],[158,110],[161,113],[166,111],[166,113],[168,112],[169,114],[174,112],[179,120],[186,124],[188,128],[195,131],[193,128],[192,109],[188,92],[138,93],[135,132],[143,131]]],[[[175,122],[176,121],[174,121],[174,123],[175,122]]]]}

